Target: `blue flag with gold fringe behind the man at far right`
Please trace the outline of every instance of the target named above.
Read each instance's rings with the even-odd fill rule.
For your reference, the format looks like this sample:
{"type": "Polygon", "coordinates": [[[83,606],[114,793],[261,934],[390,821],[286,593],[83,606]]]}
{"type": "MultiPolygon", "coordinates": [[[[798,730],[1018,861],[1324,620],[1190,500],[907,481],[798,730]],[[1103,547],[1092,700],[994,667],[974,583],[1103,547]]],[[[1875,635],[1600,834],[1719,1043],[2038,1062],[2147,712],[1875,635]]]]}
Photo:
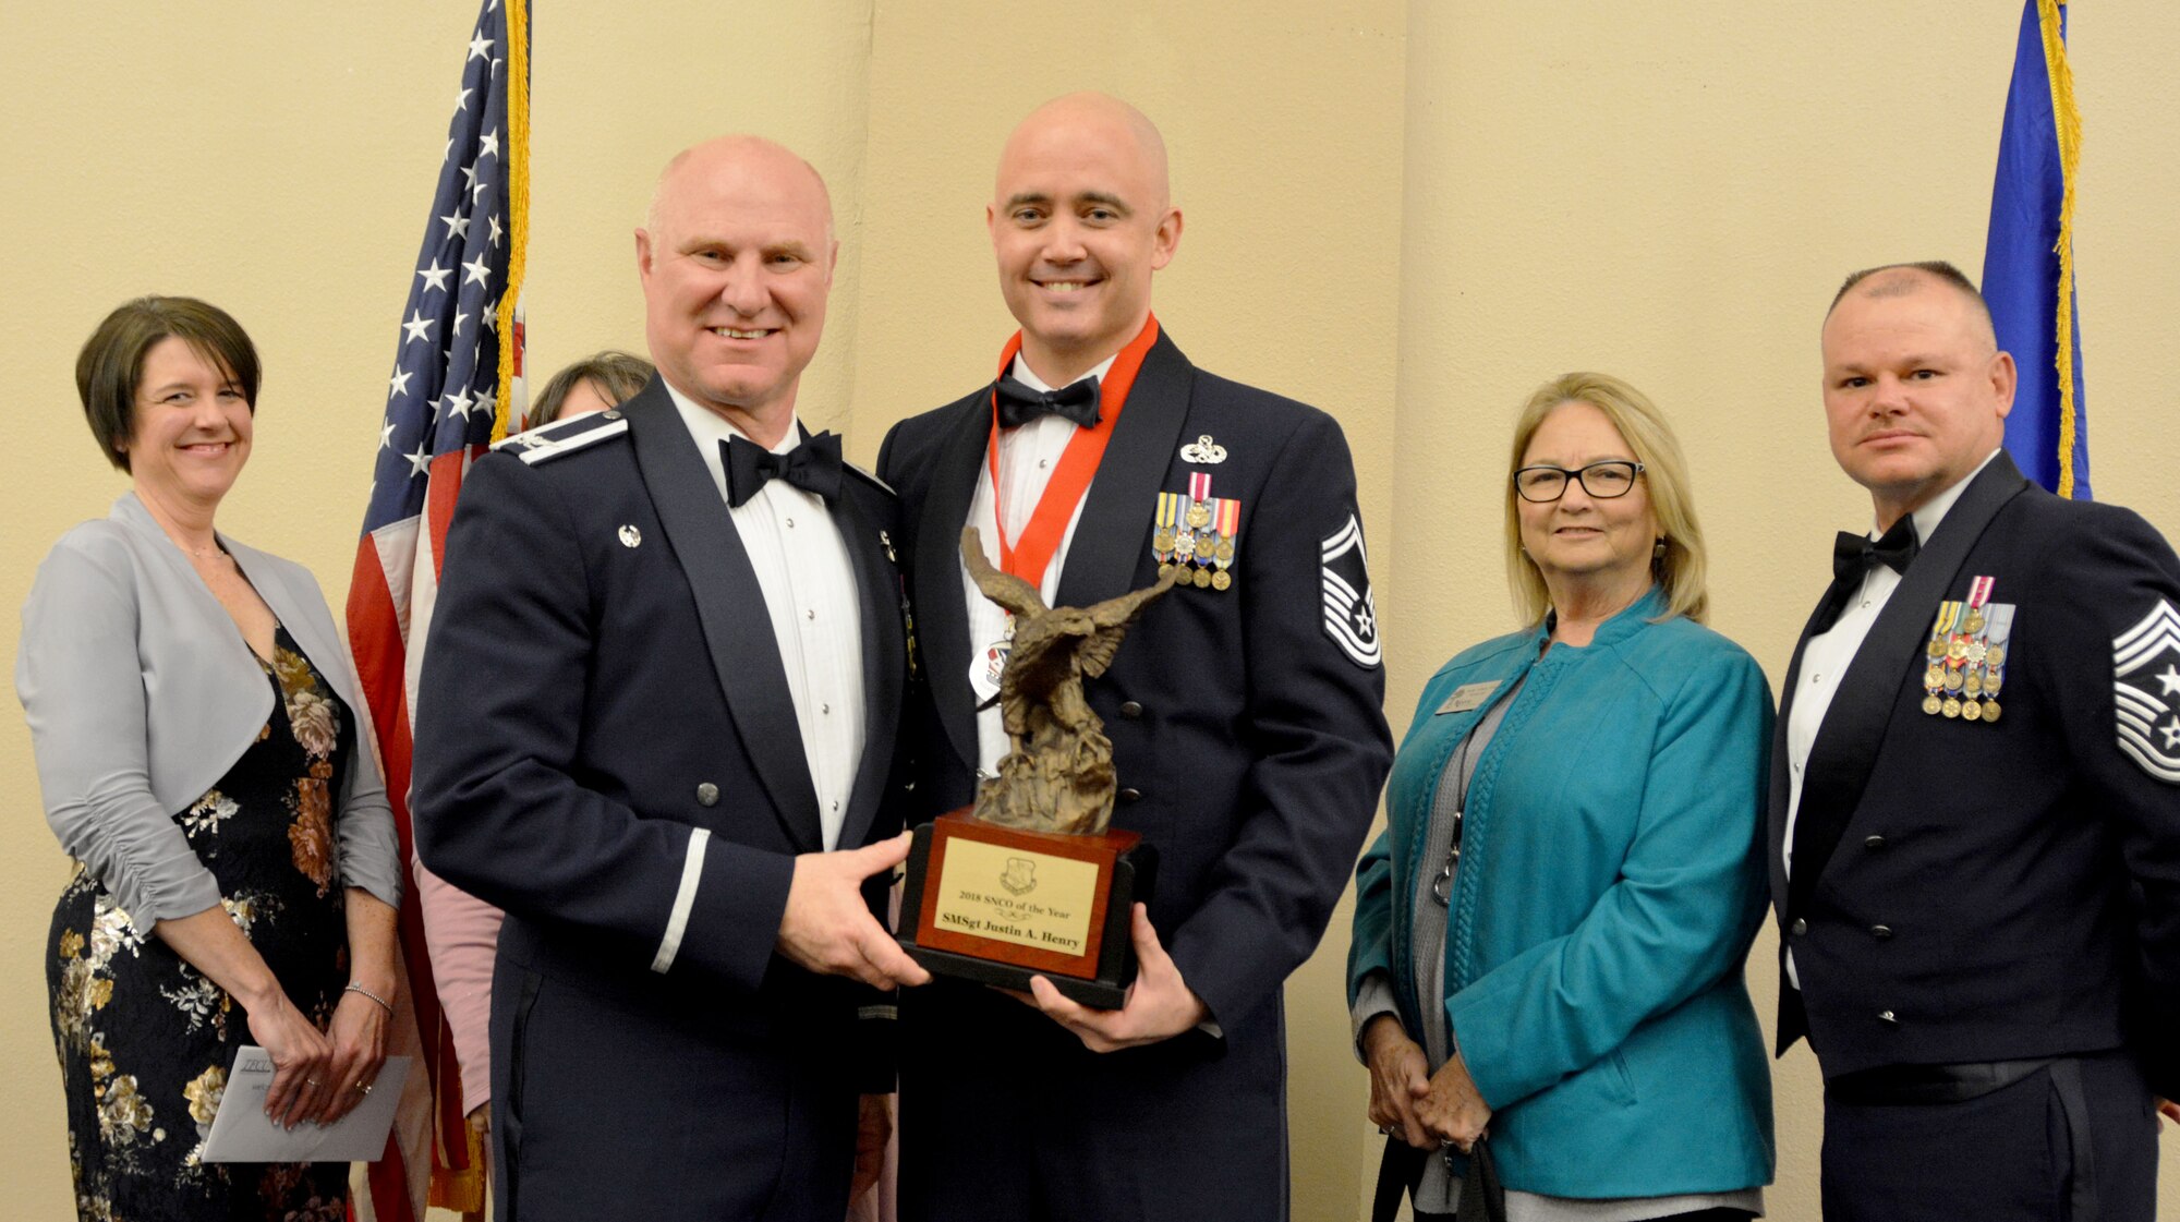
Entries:
{"type": "Polygon", "coordinates": [[[2006,89],[1999,172],[1990,188],[1984,299],[2021,386],[2006,452],[2045,489],[2088,500],[2082,327],[2073,299],[2073,179],[2082,118],[2067,68],[2064,0],[2027,0],[2006,89]]]}

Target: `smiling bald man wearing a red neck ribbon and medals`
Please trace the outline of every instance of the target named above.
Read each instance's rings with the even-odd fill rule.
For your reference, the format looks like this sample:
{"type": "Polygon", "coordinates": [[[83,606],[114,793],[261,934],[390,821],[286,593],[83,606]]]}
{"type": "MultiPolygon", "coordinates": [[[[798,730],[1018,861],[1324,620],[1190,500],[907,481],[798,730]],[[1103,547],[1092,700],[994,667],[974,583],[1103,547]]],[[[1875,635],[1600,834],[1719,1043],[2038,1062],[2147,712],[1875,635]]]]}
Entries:
{"type": "Polygon", "coordinates": [[[1046,604],[1175,570],[1088,681],[1114,825],[1160,853],[1118,1010],[1036,980],[903,997],[911,1222],[1286,1215],[1280,989],[1345,886],[1391,764],[1354,467],[1325,412],[1195,369],[1151,316],[1182,238],[1158,129],[1097,94],[1007,140],[988,209],[1022,325],[998,382],[900,423],[879,474],[913,539],[931,709],[911,820],[964,807],[1007,740],[1005,613],[959,541],[1046,604]],[[1042,1013],[1040,1013],[1042,1010],[1042,1013]]]}

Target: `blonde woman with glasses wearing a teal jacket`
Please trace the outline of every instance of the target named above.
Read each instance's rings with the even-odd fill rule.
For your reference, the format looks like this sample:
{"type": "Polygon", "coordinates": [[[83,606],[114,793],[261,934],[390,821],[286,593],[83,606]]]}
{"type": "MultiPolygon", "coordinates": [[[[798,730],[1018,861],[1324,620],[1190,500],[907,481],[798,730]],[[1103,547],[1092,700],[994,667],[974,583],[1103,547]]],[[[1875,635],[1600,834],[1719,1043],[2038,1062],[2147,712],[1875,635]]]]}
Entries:
{"type": "Polygon", "coordinates": [[[1485,1133],[1513,1222],[1764,1209],[1770,1069],[1742,962],[1772,703],[1703,626],[1683,471],[1618,378],[1530,397],[1506,554],[1533,626],[1445,663],[1393,764],[1347,980],[1369,1115],[1421,1220],[1454,1213],[1485,1133]]]}

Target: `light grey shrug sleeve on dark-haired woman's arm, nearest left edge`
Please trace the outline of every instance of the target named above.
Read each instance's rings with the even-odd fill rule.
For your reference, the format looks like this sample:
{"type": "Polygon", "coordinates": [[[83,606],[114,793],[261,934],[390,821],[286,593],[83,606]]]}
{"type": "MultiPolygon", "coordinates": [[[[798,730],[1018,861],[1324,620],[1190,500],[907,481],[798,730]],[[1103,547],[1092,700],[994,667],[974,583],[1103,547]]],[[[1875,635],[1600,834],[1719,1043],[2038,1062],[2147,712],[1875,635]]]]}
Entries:
{"type": "Polygon", "coordinates": [[[218,908],[220,886],[150,792],[137,596],[129,559],[61,539],[22,607],[15,694],[46,823],[140,932],[218,908]]]}

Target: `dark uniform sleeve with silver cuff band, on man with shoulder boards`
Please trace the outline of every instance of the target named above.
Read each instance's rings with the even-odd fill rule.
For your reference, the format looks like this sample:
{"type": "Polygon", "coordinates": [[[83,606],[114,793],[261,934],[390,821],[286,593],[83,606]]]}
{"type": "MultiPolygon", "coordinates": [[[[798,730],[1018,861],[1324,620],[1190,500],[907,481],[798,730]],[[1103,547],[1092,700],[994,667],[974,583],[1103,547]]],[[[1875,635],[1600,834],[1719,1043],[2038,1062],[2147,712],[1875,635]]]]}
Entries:
{"type": "Polygon", "coordinates": [[[512,454],[480,460],[447,535],[416,700],[419,855],[508,914],[754,993],[794,858],[576,781],[595,591],[562,493],[528,476],[512,454]]]}

